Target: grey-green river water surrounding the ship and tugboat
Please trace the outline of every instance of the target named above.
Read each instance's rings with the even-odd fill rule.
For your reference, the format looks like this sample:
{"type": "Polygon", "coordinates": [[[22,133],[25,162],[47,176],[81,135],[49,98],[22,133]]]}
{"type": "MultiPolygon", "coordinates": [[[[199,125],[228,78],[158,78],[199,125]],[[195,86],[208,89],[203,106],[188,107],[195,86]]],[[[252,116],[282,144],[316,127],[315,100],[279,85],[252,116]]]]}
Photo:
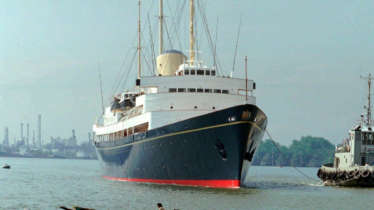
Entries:
{"type": "MultiPolygon", "coordinates": [[[[98,160],[4,158],[0,209],[371,209],[374,189],[323,186],[292,167],[252,166],[237,189],[136,183],[101,177],[98,160]]],[[[298,168],[318,180],[318,168],[298,168]]]]}

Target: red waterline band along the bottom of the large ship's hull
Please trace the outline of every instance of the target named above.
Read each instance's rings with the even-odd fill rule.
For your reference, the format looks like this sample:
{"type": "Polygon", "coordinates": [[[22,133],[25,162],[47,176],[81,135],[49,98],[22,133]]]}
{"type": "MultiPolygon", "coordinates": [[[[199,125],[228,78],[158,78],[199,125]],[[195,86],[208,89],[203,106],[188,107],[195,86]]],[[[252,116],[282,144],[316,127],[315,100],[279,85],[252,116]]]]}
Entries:
{"type": "Polygon", "coordinates": [[[152,182],[159,184],[176,184],[176,185],[192,185],[192,186],[208,186],[215,188],[239,188],[240,180],[160,180],[160,179],[127,179],[102,176],[107,179],[129,181],[129,182],[152,182]]]}

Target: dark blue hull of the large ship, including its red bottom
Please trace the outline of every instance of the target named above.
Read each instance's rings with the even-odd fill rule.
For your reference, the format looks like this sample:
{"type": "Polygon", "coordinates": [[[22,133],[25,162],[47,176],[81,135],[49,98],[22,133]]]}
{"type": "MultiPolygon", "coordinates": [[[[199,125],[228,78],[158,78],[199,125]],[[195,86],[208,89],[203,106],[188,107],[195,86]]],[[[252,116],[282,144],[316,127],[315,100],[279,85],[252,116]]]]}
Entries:
{"type": "Polygon", "coordinates": [[[266,115],[239,105],[125,138],[96,142],[110,179],[239,187],[264,135],[266,115]]]}

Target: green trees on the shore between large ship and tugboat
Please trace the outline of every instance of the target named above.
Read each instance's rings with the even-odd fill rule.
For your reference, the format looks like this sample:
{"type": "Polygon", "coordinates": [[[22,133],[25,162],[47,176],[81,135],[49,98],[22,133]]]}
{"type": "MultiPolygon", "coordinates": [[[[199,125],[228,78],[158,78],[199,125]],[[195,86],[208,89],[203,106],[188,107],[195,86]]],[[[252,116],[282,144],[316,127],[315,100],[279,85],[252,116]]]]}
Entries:
{"type": "Polygon", "coordinates": [[[321,167],[334,161],[335,145],[322,137],[301,136],[290,146],[283,146],[270,139],[261,141],[252,159],[252,166],[321,167]],[[283,157],[287,158],[287,160],[283,157]]]}

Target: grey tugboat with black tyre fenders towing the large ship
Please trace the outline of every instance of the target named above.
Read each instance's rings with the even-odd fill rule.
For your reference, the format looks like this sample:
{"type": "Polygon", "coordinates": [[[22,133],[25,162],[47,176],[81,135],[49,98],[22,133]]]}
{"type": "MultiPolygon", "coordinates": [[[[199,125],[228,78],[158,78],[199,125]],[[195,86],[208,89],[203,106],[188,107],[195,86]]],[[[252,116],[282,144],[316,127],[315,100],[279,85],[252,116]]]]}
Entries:
{"type": "Polygon", "coordinates": [[[327,186],[374,187],[374,121],[371,119],[370,100],[373,77],[369,74],[361,78],[368,85],[364,113],[349,131],[349,138],[343,139],[342,144],[335,148],[334,163],[322,165],[317,172],[327,186]]]}

